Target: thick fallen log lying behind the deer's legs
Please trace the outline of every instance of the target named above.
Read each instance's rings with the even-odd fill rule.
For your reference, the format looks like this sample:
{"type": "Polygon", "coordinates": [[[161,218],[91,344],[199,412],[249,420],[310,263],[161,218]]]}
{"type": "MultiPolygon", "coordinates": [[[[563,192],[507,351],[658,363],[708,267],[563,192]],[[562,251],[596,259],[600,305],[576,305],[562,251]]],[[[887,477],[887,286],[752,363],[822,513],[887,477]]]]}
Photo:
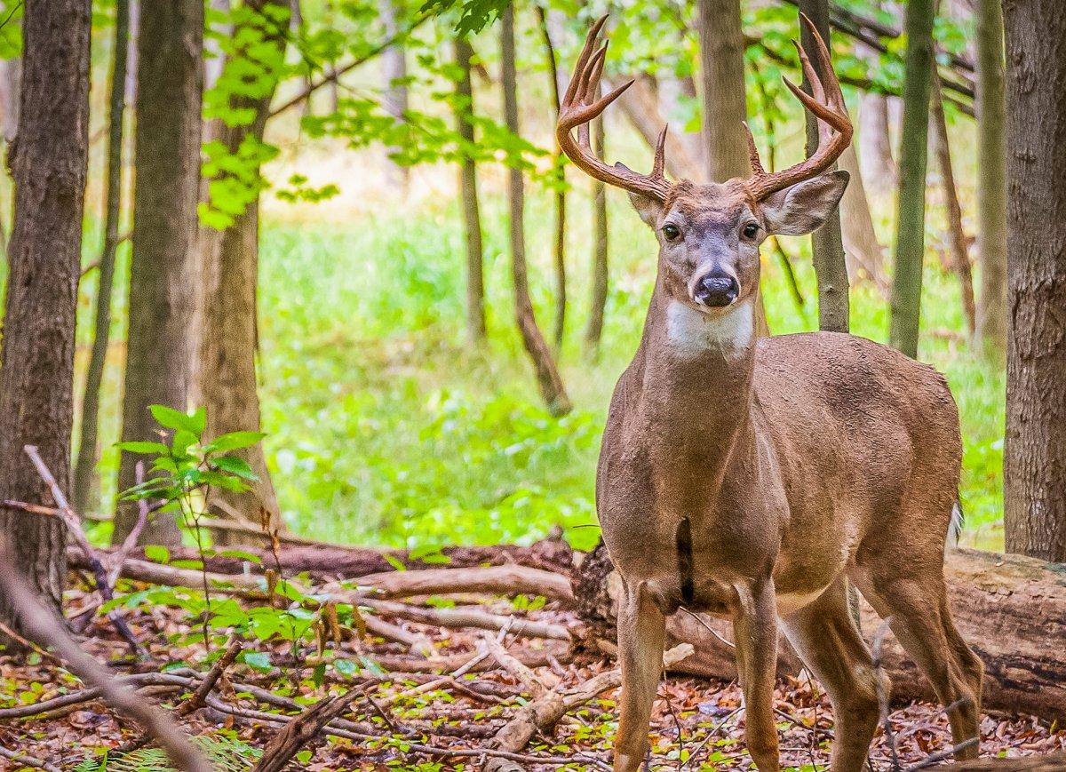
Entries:
{"type": "MultiPolygon", "coordinates": [[[[944,576],[955,624],[985,663],[983,709],[1066,719],[1066,565],[958,549],[948,556],[944,576]]],[[[578,569],[576,581],[578,608],[591,637],[586,643],[603,648],[599,642],[614,641],[619,591],[607,551],[598,547],[578,569]]],[[[862,607],[862,628],[870,638],[881,621],[873,609],[865,602],[862,607]]],[[[688,641],[696,649],[679,672],[737,677],[728,622],[679,612],[669,618],[667,632],[671,641],[688,641]]],[[[894,703],[936,702],[892,637],[885,642],[883,659],[894,703]]],[[[778,672],[795,674],[797,663],[785,656],[778,672]]]]}

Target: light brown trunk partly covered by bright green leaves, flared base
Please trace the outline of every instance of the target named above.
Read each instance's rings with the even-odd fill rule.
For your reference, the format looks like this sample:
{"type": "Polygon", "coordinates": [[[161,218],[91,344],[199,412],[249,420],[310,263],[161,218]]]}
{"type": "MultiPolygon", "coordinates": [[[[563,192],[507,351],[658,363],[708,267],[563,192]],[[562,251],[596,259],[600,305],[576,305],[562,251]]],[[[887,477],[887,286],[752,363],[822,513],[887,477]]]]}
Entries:
{"type": "MultiPolygon", "coordinates": [[[[286,0],[264,0],[260,7],[273,5],[288,10],[286,0]]],[[[271,17],[275,18],[275,17],[271,17]]],[[[264,42],[285,48],[287,25],[276,21],[264,42]]],[[[241,31],[235,31],[238,39],[241,31]]],[[[236,154],[241,143],[251,138],[262,142],[270,113],[270,103],[277,83],[259,99],[233,97],[233,106],[251,109],[255,118],[246,126],[211,125],[213,141],[236,154]]],[[[259,170],[256,168],[258,174],[259,170]]],[[[258,432],[260,429],[259,384],[256,377],[256,355],[259,352],[256,309],[259,279],[259,202],[253,200],[224,230],[200,228],[199,251],[203,271],[203,306],[197,315],[198,358],[196,397],[207,408],[206,437],[211,439],[229,432],[258,432]]],[[[209,509],[223,518],[239,518],[249,522],[266,520],[271,528],[280,528],[277,497],[261,443],[237,451],[259,479],[244,493],[214,489],[208,498],[209,509]]],[[[222,538],[222,541],[228,541],[222,538]]]]}

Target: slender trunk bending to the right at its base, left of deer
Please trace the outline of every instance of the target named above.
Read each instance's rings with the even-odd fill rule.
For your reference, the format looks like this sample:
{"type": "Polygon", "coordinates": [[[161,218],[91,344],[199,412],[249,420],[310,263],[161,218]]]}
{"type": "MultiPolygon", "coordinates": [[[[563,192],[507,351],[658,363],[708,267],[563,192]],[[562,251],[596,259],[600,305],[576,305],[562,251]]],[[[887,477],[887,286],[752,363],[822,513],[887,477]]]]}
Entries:
{"type": "MultiPolygon", "coordinates": [[[[515,13],[507,5],[502,15],[500,27],[500,50],[502,60],[503,112],[507,130],[515,136],[518,129],[518,95],[517,75],[515,73],[515,13]]],[[[511,205],[511,271],[515,285],[515,316],[522,343],[533,367],[536,369],[537,384],[540,396],[548,409],[553,415],[565,415],[570,412],[570,400],[563,387],[559,368],[551,356],[551,350],[540,334],[536,317],[533,313],[533,301],[530,299],[529,282],[526,272],[526,229],[522,223],[524,210],[524,191],[522,187],[522,171],[512,166],[507,170],[507,198],[511,205]]]]}

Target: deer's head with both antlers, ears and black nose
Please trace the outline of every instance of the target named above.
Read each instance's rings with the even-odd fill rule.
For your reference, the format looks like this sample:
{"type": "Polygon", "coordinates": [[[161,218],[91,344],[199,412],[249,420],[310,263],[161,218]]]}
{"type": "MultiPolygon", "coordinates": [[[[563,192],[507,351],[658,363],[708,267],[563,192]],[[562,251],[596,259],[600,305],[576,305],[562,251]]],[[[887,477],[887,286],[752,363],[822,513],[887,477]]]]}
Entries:
{"type": "Polygon", "coordinates": [[[588,32],[566,90],[555,131],[560,147],[585,173],[629,191],[641,219],[659,240],[662,286],[671,297],[706,313],[724,312],[758,291],[759,245],[768,236],[798,236],[818,229],[844,193],[847,173],[827,170],[851,142],[852,124],[829,52],[804,16],[826,83],[798,45],[813,96],[787,79],[785,83],[818,117],[819,146],[810,158],[781,172],[764,172],[748,131],[752,177],[721,184],[669,182],[663,174],[666,129],[659,135],[649,175],[636,174],[621,163],[608,165],[592,151],[588,122],[633,82],[595,98],[607,55],[607,44],[596,50],[596,41],[605,21],[607,17],[601,18],[588,32]],[[571,133],[575,128],[577,140],[571,133]]]}

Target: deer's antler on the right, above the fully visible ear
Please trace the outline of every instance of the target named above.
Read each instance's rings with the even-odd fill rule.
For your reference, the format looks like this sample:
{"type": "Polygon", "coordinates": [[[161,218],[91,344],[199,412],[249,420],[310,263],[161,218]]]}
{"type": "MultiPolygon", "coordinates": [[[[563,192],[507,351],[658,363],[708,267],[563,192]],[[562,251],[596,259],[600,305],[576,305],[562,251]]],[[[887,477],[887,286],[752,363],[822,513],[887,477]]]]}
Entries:
{"type": "Polygon", "coordinates": [[[794,41],[796,50],[800,52],[800,63],[803,65],[804,76],[810,83],[813,96],[798,89],[788,78],[784,80],[785,85],[795,94],[796,99],[803,102],[803,106],[818,118],[818,149],[810,158],[794,166],[781,172],[764,172],[762,163],[759,161],[759,150],[755,146],[755,139],[745,124],[744,129],[747,131],[747,148],[753,172],[753,176],[746,180],[746,184],[757,202],[796,182],[822,174],[836,162],[852,141],[852,122],[847,116],[847,108],[844,106],[844,95],[840,91],[840,81],[837,80],[837,74],[833,70],[833,63],[829,61],[829,50],[807,15],[800,14],[800,18],[807,31],[810,32],[811,37],[814,38],[814,53],[826,80],[825,83],[821,81],[807,58],[807,52],[804,51],[803,46],[794,41]]]}

